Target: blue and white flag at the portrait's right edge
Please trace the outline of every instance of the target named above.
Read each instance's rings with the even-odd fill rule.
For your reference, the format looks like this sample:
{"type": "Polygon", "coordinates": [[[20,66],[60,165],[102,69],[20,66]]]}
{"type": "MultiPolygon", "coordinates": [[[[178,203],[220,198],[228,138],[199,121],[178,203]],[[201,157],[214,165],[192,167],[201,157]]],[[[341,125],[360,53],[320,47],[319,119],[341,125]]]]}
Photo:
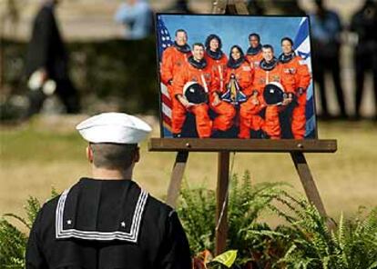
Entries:
{"type": "MultiPolygon", "coordinates": [[[[299,25],[299,30],[294,38],[294,50],[300,55],[305,65],[308,65],[311,72],[311,41],[309,35],[309,20],[304,17],[299,25]]],[[[306,95],[306,133],[305,138],[316,138],[315,110],[314,110],[313,80],[307,89],[306,95]]]]}

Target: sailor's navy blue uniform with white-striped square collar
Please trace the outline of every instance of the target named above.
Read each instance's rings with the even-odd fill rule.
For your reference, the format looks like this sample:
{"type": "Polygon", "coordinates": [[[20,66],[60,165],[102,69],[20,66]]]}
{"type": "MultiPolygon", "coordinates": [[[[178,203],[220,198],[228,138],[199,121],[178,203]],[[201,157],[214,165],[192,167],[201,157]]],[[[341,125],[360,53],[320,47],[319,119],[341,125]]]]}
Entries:
{"type": "Polygon", "coordinates": [[[82,178],[36,217],[26,268],[190,269],[178,215],[130,180],[82,178]]]}

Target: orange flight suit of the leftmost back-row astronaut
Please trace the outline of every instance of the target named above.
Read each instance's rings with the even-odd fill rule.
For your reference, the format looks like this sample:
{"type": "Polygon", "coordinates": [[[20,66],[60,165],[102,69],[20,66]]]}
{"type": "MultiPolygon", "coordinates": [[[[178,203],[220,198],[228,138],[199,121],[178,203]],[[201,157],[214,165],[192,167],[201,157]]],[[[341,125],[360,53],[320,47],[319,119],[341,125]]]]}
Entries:
{"type": "Polygon", "coordinates": [[[161,82],[164,85],[168,85],[168,93],[170,98],[173,99],[173,85],[174,76],[178,74],[178,71],[185,63],[188,62],[188,58],[191,53],[183,53],[178,51],[174,45],[169,46],[164,50],[162,54],[162,61],[160,66],[161,82]]]}

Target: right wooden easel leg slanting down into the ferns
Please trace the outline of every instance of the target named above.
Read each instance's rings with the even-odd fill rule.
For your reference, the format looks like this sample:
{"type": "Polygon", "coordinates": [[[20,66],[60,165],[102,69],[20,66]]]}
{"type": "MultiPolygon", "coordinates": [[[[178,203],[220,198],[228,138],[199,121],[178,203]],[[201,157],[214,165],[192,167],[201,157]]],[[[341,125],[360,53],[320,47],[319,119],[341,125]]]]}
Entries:
{"type": "Polygon", "coordinates": [[[327,216],[320,193],[318,192],[314,179],[311,176],[311,170],[309,169],[304,154],[294,152],[290,153],[290,156],[292,157],[297,173],[300,176],[301,184],[303,185],[309,201],[317,207],[322,216],[327,216]]]}

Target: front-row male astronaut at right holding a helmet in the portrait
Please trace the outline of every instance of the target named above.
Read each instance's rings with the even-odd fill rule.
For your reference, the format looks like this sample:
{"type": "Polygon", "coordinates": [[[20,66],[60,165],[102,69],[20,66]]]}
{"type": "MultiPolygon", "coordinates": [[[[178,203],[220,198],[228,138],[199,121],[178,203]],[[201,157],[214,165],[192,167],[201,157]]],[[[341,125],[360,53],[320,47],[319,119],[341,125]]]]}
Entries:
{"type": "MultiPolygon", "coordinates": [[[[271,45],[262,46],[263,59],[260,61],[260,67],[255,69],[253,89],[256,91],[254,95],[263,95],[265,85],[270,82],[280,83],[284,87],[285,97],[282,105],[267,105],[264,119],[263,131],[270,136],[270,139],[280,139],[280,119],[279,113],[285,109],[287,105],[293,100],[295,94],[294,79],[290,75],[285,75],[283,66],[280,65],[279,60],[274,56],[273,47],[271,45]]],[[[261,101],[265,103],[264,100],[261,101]]]]}

